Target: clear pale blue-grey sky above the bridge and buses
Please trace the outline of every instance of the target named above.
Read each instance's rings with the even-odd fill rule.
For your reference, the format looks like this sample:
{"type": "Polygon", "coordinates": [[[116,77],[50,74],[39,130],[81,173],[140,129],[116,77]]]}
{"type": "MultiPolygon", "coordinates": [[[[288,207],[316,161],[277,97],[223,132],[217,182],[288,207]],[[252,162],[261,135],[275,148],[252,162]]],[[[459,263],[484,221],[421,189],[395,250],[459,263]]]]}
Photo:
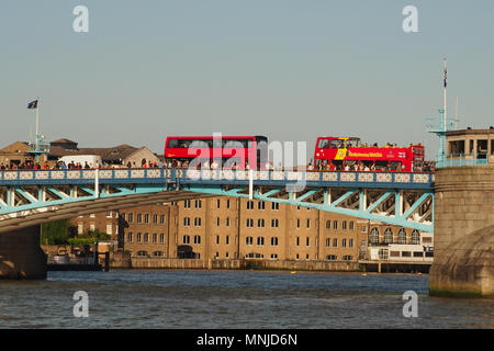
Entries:
{"type": "Polygon", "coordinates": [[[167,136],[222,133],[311,154],[326,135],[423,143],[434,159],[445,57],[448,115],[458,97],[458,128],[494,124],[492,0],[2,1],[0,44],[0,147],[33,137],[40,97],[46,140],[80,147],[162,154],[167,136]]]}

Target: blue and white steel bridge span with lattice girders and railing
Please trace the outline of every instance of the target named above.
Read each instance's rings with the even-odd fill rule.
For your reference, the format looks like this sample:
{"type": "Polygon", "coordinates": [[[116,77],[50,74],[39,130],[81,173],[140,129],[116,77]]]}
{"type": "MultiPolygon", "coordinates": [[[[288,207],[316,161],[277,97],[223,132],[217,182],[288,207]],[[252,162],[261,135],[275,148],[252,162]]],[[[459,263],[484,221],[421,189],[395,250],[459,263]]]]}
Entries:
{"type": "Polygon", "coordinates": [[[234,196],[434,230],[434,174],[195,169],[0,172],[0,233],[157,202],[234,196]]]}

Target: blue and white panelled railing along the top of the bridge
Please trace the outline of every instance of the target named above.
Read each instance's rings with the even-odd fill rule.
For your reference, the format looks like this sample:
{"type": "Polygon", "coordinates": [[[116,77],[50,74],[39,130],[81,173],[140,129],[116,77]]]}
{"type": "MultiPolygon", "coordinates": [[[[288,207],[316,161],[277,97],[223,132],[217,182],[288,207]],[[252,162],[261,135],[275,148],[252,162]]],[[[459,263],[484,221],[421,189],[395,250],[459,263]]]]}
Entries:
{"type": "Polygon", "coordinates": [[[340,184],[388,186],[416,185],[431,188],[434,173],[370,171],[248,171],[191,169],[81,169],[81,170],[5,170],[0,171],[0,185],[90,184],[98,179],[111,183],[247,183],[259,184],[340,184]]]}

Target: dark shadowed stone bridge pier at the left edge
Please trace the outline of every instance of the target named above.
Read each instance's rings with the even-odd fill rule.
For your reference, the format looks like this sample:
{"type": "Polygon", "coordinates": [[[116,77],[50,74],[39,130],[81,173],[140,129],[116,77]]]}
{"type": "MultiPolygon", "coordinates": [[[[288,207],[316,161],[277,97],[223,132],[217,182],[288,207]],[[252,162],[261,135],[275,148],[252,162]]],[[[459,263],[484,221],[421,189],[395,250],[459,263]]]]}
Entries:
{"type": "Polygon", "coordinates": [[[0,233],[0,279],[46,279],[40,227],[0,233]]]}

